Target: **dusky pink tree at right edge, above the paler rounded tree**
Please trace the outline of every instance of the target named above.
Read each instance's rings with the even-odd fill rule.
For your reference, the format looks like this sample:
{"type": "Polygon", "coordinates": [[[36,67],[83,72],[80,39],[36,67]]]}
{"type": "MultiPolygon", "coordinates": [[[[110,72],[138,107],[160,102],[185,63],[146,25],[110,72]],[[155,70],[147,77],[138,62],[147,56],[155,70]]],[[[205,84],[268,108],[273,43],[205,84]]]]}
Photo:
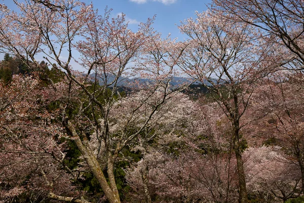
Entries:
{"type": "MultiPolygon", "coordinates": [[[[277,72],[258,86],[253,96],[255,111],[252,114],[268,114],[247,126],[250,134],[262,141],[260,144],[279,146],[301,172],[303,191],[303,134],[302,134],[302,74],[277,72]],[[263,127],[263,130],[260,130],[263,127]]],[[[251,115],[250,115],[251,114],[251,115]]],[[[247,131],[247,130],[246,130],[247,131]]]]}

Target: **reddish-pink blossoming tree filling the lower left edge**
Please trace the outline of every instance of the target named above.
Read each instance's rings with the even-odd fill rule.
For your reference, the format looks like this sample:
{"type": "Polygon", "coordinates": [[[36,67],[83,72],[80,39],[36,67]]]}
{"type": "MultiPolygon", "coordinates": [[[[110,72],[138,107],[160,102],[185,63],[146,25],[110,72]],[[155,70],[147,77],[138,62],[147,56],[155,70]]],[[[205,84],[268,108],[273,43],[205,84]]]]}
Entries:
{"type": "Polygon", "coordinates": [[[66,134],[58,122],[60,114],[47,108],[55,100],[64,101],[68,85],[57,83],[56,89],[42,86],[34,76],[15,76],[10,86],[1,84],[2,200],[13,200],[22,193],[31,200],[63,198],[53,193],[56,191],[86,202],[80,197],[84,193],[71,185],[77,172],[64,168],[66,143],[61,139],[66,134]]]}

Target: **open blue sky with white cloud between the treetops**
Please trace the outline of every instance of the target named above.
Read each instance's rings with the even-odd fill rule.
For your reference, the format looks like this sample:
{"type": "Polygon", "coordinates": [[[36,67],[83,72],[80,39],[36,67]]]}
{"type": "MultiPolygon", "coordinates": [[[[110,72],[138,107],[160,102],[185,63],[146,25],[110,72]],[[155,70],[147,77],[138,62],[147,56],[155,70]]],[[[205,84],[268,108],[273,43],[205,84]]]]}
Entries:
{"type": "Polygon", "coordinates": [[[181,40],[184,36],[177,28],[180,20],[195,17],[195,11],[205,11],[206,5],[210,4],[211,0],[86,0],[85,2],[92,2],[100,13],[108,6],[113,9],[113,16],[119,13],[126,14],[130,28],[134,31],[139,22],[145,22],[147,18],[156,15],[154,28],[162,32],[163,37],[170,32],[172,38],[178,37],[181,40]]]}

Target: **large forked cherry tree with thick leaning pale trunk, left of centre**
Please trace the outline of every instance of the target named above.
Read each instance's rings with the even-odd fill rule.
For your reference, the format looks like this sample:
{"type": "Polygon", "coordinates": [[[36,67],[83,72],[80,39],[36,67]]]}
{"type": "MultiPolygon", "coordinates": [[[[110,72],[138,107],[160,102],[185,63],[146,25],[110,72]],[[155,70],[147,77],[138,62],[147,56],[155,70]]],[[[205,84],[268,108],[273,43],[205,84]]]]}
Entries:
{"type": "MultiPolygon", "coordinates": [[[[41,57],[64,72],[68,91],[63,92],[66,99],[59,100],[58,111],[65,136],[77,145],[83,169],[94,175],[108,201],[120,202],[115,164],[161,116],[166,101],[183,89],[173,82],[183,44],[169,37],[163,40],[151,28],[152,19],[133,32],[124,15],[110,19],[108,10],[101,16],[92,5],[79,1],[14,2],[18,12],[1,5],[0,50],[18,56],[33,72],[43,72],[37,59],[41,57]],[[75,63],[86,71],[74,71],[75,63]],[[124,97],[118,92],[122,84],[134,92],[124,97]],[[73,96],[74,88],[80,96],[73,96]],[[118,115],[123,119],[116,120],[118,115]]],[[[74,201],[67,193],[52,193],[49,198],[74,201]]]]}

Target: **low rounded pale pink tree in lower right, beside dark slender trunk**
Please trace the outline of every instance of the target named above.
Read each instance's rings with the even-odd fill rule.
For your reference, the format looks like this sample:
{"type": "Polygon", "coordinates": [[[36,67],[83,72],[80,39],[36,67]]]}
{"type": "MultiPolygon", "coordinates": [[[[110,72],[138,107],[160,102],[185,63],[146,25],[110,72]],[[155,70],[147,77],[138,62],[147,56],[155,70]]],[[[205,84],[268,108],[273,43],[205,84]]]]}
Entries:
{"type": "Polygon", "coordinates": [[[300,168],[291,163],[280,147],[248,148],[244,156],[248,189],[264,201],[272,196],[284,202],[299,196],[300,168]]]}

